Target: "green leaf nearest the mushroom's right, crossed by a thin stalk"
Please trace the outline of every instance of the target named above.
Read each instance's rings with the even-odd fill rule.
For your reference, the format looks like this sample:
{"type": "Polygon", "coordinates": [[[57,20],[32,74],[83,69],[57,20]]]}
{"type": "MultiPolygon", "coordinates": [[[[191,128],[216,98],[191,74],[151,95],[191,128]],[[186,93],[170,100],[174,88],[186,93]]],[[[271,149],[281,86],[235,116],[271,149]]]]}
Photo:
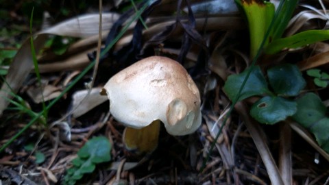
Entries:
{"type": "MultiPolygon", "coordinates": [[[[231,100],[233,100],[239,93],[239,89],[247,75],[247,70],[248,69],[246,69],[245,71],[243,71],[243,73],[240,73],[239,75],[230,75],[226,80],[223,90],[231,100]]],[[[269,93],[269,90],[267,89],[266,79],[262,71],[260,71],[259,66],[254,66],[250,70],[252,71],[249,75],[249,78],[247,79],[247,82],[245,83],[243,90],[241,91],[241,95],[238,101],[246,99],[247,97],[269,93]]]]}

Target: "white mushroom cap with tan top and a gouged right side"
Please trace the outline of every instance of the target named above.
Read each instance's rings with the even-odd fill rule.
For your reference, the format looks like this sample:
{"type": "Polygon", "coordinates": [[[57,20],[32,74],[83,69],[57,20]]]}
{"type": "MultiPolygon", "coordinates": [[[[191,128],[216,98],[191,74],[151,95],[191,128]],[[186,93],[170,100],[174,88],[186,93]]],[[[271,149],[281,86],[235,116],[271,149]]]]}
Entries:
{"type": "Polygon", "coordinates": [[[111,77],[104,88],[112,116],[127,127],[141,128],[159,119],[169,134],[180,136],[201,124],[199,90],[170,58],[140,60],[111,77]]]}

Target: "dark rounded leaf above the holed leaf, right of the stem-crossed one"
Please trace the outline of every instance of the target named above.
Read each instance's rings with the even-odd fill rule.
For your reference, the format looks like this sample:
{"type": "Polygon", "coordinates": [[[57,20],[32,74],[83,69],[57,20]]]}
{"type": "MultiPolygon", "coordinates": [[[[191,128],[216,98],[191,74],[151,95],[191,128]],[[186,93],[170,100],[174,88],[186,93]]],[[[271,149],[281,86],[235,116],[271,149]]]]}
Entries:
{"type": "Polygon", "coordinates": [[[296,96],[306,86],[302,73],[297,66],[282,64],[267,71],[269,84],[274,92],[283,96],[296,96]]]}

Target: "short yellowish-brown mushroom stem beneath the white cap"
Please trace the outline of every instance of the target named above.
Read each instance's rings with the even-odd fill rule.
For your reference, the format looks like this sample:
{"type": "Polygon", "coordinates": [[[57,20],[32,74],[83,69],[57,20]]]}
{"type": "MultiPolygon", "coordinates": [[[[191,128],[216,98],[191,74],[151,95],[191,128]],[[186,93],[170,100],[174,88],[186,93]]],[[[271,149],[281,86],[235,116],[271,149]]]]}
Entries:
{"type": "Polygon", "coordinates": [[[153,121],[141,129],[125,127],[123,143],[126,149],[138,154],[150,153],[158,147],[159,132],[160,120],[153,121]]]}

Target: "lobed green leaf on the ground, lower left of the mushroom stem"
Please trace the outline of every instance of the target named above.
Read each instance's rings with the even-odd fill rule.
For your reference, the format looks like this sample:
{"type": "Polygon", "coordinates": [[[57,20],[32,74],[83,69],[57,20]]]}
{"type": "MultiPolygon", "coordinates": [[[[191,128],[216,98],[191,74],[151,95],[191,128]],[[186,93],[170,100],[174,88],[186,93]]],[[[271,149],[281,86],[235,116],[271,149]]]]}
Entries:
{"type": "Polygon", "coordinates": [[[93,173],[96,164],[110,161],[110,150],[111,145],[106,137],[99,136],[88,140],[77,152],[77,158],[72,161],[73,167],[66,171],[64,184],[75,184],[86,173],[93,173]]]}

